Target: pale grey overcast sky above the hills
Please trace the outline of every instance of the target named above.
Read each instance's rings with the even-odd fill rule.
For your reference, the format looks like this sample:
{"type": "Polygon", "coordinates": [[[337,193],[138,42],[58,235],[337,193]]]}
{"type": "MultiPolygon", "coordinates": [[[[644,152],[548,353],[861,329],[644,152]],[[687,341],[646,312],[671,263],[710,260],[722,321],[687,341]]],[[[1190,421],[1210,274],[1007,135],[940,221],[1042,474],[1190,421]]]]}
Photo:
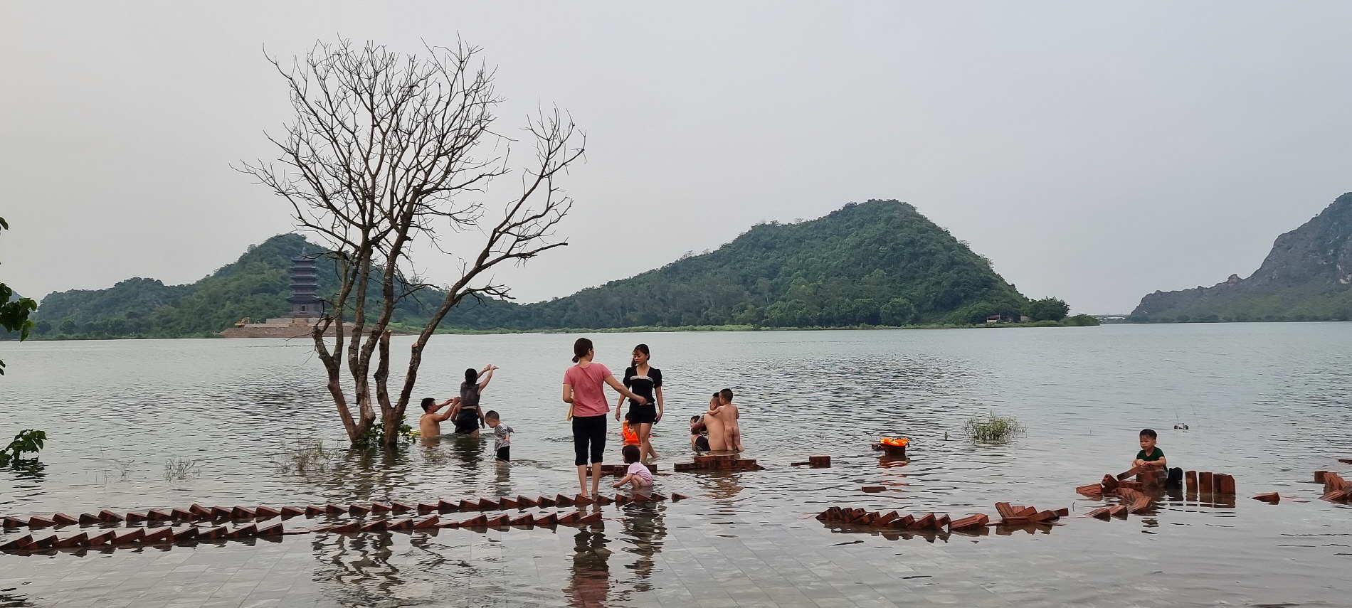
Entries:
{"type": "Polygon", "coordinates": [[[291,231],[231,169],[289,119],[264,49],[461,36],[503,127],[558,104],[588,135],[569,246],[499,273],[521,301],[899,199],[1025,295],[1126,312],[1352,191],[1349,28],[1345,1],[0,0],[0,281],[192,282],[291,231]]]}

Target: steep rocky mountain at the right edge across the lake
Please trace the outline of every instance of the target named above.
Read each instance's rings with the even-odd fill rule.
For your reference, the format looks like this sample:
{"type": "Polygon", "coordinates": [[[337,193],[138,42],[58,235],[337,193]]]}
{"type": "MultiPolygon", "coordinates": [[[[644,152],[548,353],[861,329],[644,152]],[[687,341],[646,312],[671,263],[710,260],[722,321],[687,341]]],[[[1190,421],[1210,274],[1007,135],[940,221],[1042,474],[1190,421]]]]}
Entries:
{"type": "Polygon", "coordinates": [[[1230,274],[1209,288],[1146,295],[1128,320],[1352,320],[1352,192],[1278,236],[1248,278],[1230,274]]]}

